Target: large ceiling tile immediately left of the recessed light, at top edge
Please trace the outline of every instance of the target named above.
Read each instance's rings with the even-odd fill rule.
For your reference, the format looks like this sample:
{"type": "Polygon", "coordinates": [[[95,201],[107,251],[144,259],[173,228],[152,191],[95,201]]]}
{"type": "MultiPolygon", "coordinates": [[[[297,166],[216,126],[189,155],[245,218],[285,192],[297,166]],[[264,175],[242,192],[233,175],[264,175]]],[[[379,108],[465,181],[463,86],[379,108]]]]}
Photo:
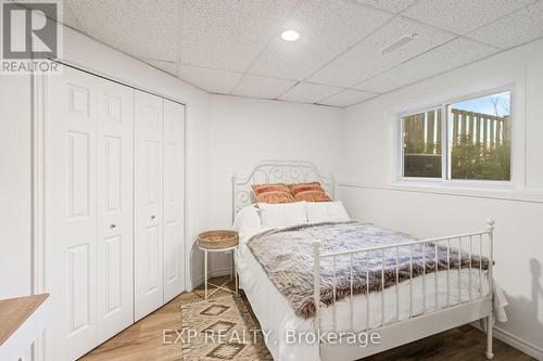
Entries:
{"type": "Polygon", "coordinates": [[[181,63],[244,72],[279,31],[294,0],[187,0],[181,63]]]}

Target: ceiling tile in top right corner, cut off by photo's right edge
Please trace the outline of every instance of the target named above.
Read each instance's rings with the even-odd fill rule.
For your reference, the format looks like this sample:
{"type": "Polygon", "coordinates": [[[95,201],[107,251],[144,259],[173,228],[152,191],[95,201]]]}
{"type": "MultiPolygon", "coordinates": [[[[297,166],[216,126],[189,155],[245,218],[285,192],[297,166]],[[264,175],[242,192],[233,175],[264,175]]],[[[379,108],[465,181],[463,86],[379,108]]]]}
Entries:
{"type": "Polygon", "coordinates": [[[543,37],[543,1],[540,0],[467,36],[502,49],[543,37]]]}

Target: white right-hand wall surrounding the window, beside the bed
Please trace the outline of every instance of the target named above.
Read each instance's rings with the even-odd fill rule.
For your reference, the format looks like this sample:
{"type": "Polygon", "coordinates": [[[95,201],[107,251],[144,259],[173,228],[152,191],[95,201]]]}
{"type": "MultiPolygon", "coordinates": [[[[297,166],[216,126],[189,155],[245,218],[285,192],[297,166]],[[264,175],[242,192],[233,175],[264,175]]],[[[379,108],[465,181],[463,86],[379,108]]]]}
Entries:
{"type": "Polygon", "coordinates": [[[509,322],[497,324],[498,335],[539,357],[543,357],[538,353],[543,350],[542,100],[543,41],[539,41],[352,106],[343,129],[340,183],[340,196],[352,216],[422,237],[484,230],[485,219],[494,218],[495,278],[510,302],[509,322]],[[399,108],[473,83],[490,85],[504,74],[519,76],[517,94],[523,99],[515,114],[517,121],[526,121],[526,154],[522,132],[517,133],[521,138],[515,151],[526,155],[526,182],[504,192],[393,184],[391,134],[399,108]]]}

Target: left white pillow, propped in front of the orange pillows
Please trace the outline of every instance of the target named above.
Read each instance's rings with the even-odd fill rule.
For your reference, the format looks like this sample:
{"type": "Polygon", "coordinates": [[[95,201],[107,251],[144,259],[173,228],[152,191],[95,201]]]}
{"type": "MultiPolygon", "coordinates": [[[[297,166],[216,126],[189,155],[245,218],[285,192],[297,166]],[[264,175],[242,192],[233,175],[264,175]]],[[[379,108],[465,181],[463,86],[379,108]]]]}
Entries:
{"type": "Polygon", "coordinates": [[[258,204],[263,228],[288,227],[307,223],[305,202],[287,204],[258,204]]]}

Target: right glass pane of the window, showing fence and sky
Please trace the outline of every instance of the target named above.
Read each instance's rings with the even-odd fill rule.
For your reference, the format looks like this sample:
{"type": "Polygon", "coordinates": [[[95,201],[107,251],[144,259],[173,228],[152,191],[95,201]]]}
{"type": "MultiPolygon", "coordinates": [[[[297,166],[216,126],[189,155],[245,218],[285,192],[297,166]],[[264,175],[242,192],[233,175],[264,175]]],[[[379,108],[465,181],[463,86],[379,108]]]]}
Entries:
{"type": "Polygon", "coordinates": [[[510,180],[510,91],[447,106],[449,178],[510,180]]]}

